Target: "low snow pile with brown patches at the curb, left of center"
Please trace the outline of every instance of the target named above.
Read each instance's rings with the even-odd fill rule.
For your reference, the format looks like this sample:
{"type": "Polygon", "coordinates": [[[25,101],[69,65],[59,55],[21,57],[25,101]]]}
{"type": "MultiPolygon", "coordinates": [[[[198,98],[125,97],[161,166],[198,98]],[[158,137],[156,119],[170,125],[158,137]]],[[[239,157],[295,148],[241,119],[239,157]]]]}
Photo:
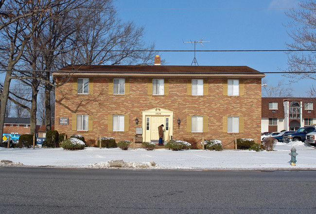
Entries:
{"type": "Polygon", "coordinates": [[[155,162],[124,162],[123,160],[109,160],[88,165],[88,168],[108,169],[108,168],[149,168],[159,169],[155,162]]]}

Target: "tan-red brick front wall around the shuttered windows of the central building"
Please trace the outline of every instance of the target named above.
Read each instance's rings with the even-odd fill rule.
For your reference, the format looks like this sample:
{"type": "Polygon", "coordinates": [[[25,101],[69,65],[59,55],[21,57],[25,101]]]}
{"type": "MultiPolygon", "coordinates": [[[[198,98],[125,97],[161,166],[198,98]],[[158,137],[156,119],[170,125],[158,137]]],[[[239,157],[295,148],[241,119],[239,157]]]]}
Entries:
{"type": "MultiPolygon", "coordinates": [[[[85,140],[100,136],[112,136],[117,142],[131,140],[136,128],[142,127],[142,111],[162,108],[174,112],[173,138],[183,139],[194,137],[201,139],[219,139],[223,145],[231,142],[234,137],[253,138],[260,142],[261,135],[261,79],[245,79],[244,96],[223,96],[223,79],[208,80],[207,96],[187,95],[187,79],[169,79],[169,95],[152,96],[147,94],[148,79],[130,78],[129,95],[114,96],[108,94],[108,78],[93,78],[93,94],[77,95],[72,93],[72,81],[56,90],[55,130],[59,133],[80,134],[85,140]],[[73,131],[72,115],[88,114],[93,117],[92,131],[73,131]],[[129,115],[128,132],[108,132],[108,115],[129,115]],[[188,115],[207,116],[208,132],[187,132],[188,115]],[[244,133],[229,134],[223,132],[223,116],[243,116],[244,133]],[[69,117],[69,125],[59,125],[59,117],[69,117]],[[139,124],[135,124],[135,118],[139,124]],[[178,128],[177,119],[181,124],[178,128]]],[[[143,132],[145,127],[143,128],[143,132]]],[[[229,144],[225,148],[233,148],[229,144]]]]}

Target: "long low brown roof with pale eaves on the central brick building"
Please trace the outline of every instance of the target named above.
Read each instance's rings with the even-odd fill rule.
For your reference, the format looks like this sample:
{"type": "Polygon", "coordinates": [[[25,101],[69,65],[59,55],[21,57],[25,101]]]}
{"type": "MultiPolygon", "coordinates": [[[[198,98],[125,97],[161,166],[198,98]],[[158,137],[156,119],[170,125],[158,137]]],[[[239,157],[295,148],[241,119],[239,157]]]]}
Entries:
{"type": "Polygon", "coordinates": [[[126,76],[126,77],[240,77],[263,78],[265,75],[247,66],[177,66],[177,65],[74,65],[53,73],[65,76],[126,76]]]}

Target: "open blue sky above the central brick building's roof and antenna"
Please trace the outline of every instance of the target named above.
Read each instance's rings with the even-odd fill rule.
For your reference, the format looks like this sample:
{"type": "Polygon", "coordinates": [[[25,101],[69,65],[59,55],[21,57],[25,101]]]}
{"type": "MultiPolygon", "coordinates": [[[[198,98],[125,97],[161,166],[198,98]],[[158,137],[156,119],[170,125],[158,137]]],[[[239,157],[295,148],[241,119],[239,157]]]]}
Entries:
{"type": "MultiPolygon", "coordinates": [[[[298,0],[116,0],[119,18],[145,27],[145,40],[156,50],[194,50],[194,41],[204,38],[196,50],[284,50],[291,42],[284,12],[298,0]],[[278,8],[278,9],[276,9],[278,8]]],[[[191,65],[193,52],[160,52],[166,65],[191,65]]],[[[246,65],[261,72],[287,68],[284,52],[196,52],[199,65],[246,65]]],[[[280,74],[267,74],[270,86],[280,74]]],[[[306,97],[312,80],[291,85],[294,97],[306,97]]]]}

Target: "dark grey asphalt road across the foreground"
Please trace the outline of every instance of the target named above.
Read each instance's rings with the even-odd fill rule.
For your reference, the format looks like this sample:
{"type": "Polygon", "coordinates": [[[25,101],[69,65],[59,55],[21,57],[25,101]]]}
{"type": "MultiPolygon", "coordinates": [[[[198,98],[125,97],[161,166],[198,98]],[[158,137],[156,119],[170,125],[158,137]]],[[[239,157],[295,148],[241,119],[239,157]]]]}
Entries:
{"type": "Polygon", "coordinates": [[[0,213],[316,213],[316,171],[0,168],[0,213]]]}

